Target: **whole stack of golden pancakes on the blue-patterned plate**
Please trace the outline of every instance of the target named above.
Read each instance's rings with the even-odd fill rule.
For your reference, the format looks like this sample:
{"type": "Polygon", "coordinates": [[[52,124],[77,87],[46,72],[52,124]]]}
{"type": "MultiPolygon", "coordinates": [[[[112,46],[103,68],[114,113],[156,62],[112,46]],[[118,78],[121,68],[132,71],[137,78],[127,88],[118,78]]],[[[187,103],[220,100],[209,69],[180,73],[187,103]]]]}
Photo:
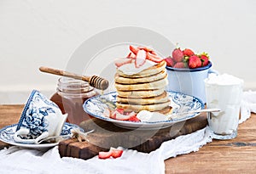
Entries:
{"type": "Polygon", "coordinates": [[[118,109],[137,113],[146,109],[165,115],[171,112],[171,101],[165,90],[168,84],[166,61],[131,76],[117,70],[114,80],[118,109]]]}

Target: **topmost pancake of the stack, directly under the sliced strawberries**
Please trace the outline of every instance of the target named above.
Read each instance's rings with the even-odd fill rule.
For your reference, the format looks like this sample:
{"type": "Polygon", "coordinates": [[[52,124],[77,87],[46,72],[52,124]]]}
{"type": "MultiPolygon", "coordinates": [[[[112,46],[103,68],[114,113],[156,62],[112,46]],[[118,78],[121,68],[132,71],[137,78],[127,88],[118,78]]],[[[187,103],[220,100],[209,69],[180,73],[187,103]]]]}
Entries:
{"type": "Polygon", "coordinates": [[[166,61],[161,61],[159,64],[151,66],[150,68],[143,70],[135,75],[125,75],[121,70],[117,70],[117,74],[119,76],[124,77],[146,77],[146,76],[153,76],[159,74],[161,71],[166,70],[166,61]]]}

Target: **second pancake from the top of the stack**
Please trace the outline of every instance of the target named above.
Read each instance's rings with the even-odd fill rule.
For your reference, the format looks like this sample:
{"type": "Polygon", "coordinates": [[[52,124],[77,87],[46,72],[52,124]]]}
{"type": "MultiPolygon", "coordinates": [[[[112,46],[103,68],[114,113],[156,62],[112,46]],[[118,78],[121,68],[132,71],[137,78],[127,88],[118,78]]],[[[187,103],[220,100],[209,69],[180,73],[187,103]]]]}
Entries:
{"type": "Polygon", "coordinates": [[[119,76],[119,74],[115,74],[114,81],[120,84],[136,84],[136,83],[146,83],[152,81],[159,81],[166,77],[166,70],[160,71],[160,73],[153,75],[153,76],[146,76],[146,77],[125,77],[119,76]]]}

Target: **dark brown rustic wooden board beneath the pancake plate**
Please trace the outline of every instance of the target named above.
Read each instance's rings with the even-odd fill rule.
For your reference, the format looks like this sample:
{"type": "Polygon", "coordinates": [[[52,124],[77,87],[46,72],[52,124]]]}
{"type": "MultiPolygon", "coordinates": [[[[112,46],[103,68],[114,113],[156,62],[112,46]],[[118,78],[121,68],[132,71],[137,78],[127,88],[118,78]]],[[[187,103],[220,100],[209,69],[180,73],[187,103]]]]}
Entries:
{"type": "Polygon", "coordinates": [[[84,121],[80,126],[85,132],[94,130],[87,136],[89,142],[79,142],[76,138],[61,141],[59,143],[61,157],[87,160],[97,155],[99,151],[107,151],[110,147],[119,146],[149,153],[158,149],[163,142],[207,126],[207,115],[201,114],[189,121],[182,121],[160,130],[129,130],[96,118],[84,121]]]}

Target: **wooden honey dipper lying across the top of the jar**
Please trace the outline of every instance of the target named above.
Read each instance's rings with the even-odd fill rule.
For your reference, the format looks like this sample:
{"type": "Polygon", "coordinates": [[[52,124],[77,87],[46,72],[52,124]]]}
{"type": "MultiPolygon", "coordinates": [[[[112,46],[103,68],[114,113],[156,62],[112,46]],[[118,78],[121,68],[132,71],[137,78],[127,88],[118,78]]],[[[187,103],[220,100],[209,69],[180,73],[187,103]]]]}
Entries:
{"type": "Polygon", "coordinates": [[[96,87],[97,89],[105,90],[108,88],[108,81],[106,79],[103,79],[100,76],[82,76],[82,75],[77,75],[71,72],[67,72],[65,70],[56,70],[56,69],[44,67],[44,66],[41,66],[39,70],[41,70],[42,72],[47,72],[54,75],[67,76],[67,77],[79,79],[82,81],[88,81],[91,87],[96,87]]]}

